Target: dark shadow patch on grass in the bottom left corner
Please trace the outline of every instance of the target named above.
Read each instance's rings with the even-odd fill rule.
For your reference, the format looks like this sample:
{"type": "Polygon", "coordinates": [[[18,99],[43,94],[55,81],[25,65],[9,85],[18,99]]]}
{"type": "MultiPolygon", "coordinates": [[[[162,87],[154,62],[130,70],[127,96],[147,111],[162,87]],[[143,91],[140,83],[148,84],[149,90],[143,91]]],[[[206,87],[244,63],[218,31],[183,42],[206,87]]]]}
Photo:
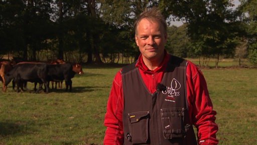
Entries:
{"type": "Polygon", "coordinates": [[[31,123],[26,121],[5,121],[0,122],[0,136],[9,136],[15,134],[24,134],[36,131],[35,129],[28,128],[31,123]]]}

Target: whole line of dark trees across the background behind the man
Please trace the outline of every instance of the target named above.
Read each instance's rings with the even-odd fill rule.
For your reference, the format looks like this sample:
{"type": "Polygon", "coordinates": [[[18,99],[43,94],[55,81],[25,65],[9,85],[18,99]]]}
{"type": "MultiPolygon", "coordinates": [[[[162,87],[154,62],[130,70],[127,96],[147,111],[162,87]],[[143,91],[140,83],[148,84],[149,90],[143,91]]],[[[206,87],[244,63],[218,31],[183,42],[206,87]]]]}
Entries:
{"type": "Polygon", "coordinates": [[[130,63],[139,55],[133,24],[158,7],[166,49],[180,57],[247,58],[257,65],[257,2],[240,0],[0,0],[0,57],[130,63]],[[183,22],[181,26],[171,23],[183,22]]]}

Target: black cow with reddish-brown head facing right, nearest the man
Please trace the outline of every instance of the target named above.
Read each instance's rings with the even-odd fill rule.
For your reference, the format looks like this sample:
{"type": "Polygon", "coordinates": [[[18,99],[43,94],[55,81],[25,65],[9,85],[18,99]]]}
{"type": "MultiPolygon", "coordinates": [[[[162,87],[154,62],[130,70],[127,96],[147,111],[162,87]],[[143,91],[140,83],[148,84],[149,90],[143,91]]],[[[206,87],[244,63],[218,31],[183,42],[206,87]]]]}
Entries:
{"type": "Polygon", "coordinates": [[[64,64],[47,64],[47,80],[48,81],[63,81],[65,80],[66,91],[72,91],[71,79],[75,74],[83,74],[83,70],[78,63],[64,64]]]}

